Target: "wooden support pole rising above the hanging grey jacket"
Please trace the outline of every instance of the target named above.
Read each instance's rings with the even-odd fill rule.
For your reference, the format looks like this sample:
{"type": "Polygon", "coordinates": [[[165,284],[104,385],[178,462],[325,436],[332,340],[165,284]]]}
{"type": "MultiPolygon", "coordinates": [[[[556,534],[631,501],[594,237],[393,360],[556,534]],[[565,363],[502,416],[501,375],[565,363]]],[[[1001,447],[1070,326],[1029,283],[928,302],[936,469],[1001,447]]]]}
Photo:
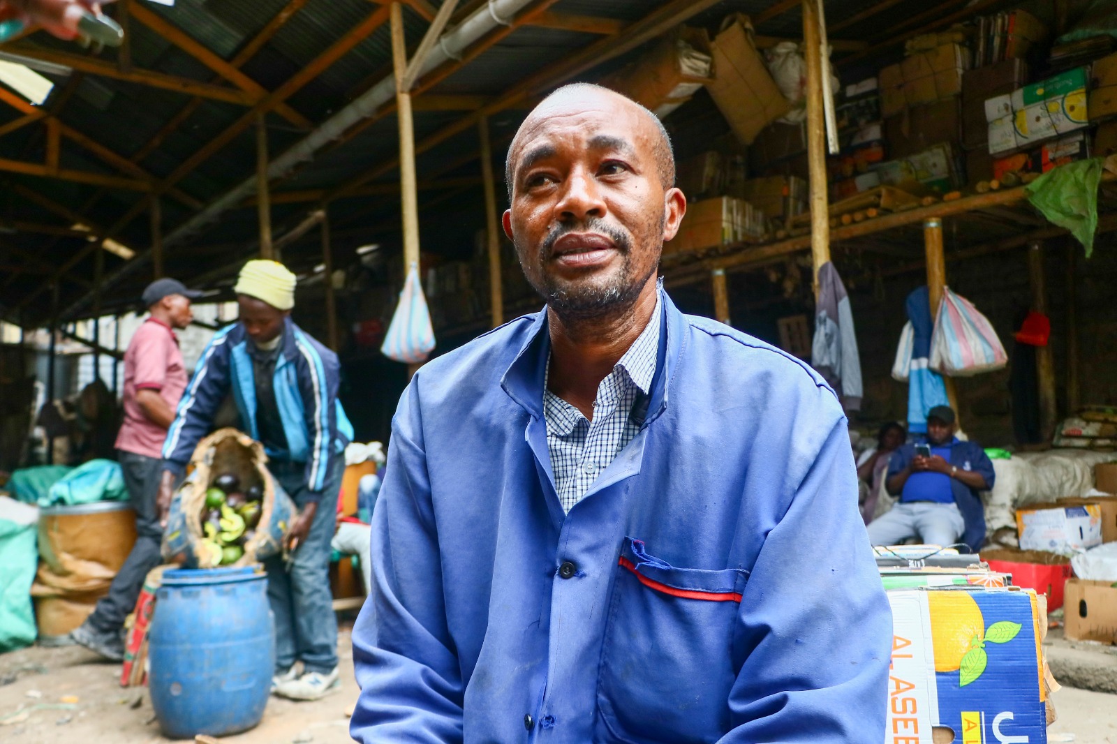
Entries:
{"type": "Polygon", "coordinates": [[[822,102],[822,47],[819,0],[803,0],[803,49],[806,61],[806,161],[811,177],[812,283],[819,290],[819,269],[830,260],[830,204],[827,193],[827,132],[822,102]]]}

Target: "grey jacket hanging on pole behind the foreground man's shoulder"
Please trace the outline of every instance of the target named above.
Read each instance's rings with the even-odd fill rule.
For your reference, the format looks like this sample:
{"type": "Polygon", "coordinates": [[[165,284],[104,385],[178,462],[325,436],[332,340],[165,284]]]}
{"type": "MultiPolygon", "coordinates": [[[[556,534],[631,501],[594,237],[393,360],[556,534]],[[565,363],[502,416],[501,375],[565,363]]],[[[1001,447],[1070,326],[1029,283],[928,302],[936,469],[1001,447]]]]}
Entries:
{"type": "Polygon", "coordinates": [[[861,359],[853,332],[853,311],[846,285],[831,261],[819,268],[811,366],[838,392],[847,412],[861,410],[861,359]]]}

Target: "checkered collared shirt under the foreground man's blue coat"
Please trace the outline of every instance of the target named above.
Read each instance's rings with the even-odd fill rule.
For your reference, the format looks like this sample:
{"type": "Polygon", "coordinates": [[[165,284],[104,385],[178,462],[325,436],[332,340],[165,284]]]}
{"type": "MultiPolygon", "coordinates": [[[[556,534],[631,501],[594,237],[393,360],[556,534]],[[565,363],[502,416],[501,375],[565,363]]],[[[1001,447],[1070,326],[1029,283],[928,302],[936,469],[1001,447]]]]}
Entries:
{"type": "Polygon", "coordinates": [[[632,441],[640,430],[640,422],[629,416],[637,395],[649,394],[651,379],[656,375],[656,356],[659,354],[659,324],[661,301],[656,297],[656,309],[639,337],[618,360],[601,384],[593,401],[593,421],[547,389],[551,359],[547,357],[547,376],[543,385],[543,418],[547,425],[547,450],[555,488],[564,512],[582,500],[598,476],[617,455],[632,441]]]}

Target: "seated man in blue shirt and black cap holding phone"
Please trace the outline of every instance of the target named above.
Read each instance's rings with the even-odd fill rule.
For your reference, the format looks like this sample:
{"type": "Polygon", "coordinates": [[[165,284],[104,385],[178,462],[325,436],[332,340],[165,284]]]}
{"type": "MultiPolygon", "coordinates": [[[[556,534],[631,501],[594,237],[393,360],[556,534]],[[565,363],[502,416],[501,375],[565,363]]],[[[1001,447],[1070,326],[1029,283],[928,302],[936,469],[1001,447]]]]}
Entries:
{"type": "Polygon", "coordinates": [[[985,513],[980,492],[990,490],[996,476],[985,450],[961,441],[955,429],[954,410],[936,406],[927,412],[926,440],[892,455],[885,487],[900,500],[869,525],[873,545],[916,537],[929,545],[981,549],[985,513]]]}

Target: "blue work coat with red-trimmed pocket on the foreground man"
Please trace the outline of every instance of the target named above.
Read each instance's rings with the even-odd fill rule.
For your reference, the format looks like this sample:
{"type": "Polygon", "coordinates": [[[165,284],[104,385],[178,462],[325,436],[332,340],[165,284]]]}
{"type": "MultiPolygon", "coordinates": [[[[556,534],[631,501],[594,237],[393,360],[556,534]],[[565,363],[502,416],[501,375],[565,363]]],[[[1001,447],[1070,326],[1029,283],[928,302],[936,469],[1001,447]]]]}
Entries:
{"type": "Polygon", "coordinates": [[[891,614],[833,391],[662,301],[640,431],[569,515],[545,313],[416,373],[353,630],[355,740],[884,741],[891,614]]]}

